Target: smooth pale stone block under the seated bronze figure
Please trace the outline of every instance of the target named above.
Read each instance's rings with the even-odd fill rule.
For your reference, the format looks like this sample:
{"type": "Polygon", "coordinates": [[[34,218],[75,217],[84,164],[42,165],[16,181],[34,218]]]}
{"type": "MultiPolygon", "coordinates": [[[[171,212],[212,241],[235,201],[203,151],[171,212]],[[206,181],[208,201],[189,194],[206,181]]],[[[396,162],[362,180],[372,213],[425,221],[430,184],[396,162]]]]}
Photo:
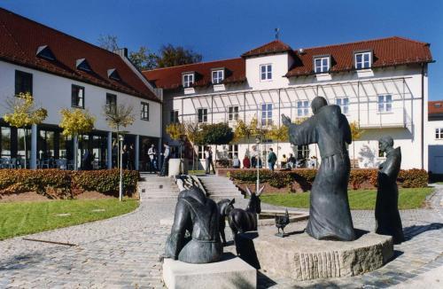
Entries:
{"type": "Polygon", "coordinates": [[[169,289],[256,288],[257,270],[233,254],[223,254],[221,262],[208,264],[165,259],[163,281],[169,289]]]}

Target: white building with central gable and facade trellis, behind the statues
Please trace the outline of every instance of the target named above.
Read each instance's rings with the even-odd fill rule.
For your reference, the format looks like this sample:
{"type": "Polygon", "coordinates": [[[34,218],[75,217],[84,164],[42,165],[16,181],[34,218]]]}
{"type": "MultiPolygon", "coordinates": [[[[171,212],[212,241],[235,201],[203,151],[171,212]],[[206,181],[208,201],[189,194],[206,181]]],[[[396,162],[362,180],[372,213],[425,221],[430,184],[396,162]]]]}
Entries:
{"type": "MultiPolygon", "coordinates": [[[[402,168],[428,168],[424,116],[429,47],[390,37],[294,51],[276,40],[241,58],[159,68],[144,75],[163,89],[163,128],[171,121],[228,121],[234,126],[238,119],[248,122],[254,116],[264,126],[280,126],[282,113],[292,120],[307,117],[312,99],[323,96],[364,129],[349,147],[358,167],[377,167],[384,160],[377,140],[390,135],[401,146],[402,168]]],[[[292,152],[289,143],[263,143],[265,155],[269,147],[279,157],[292,152]]],[[[238,154],[242,159],[247,148],[245,142],[219,146],[217,156],[238,154]]],[[[308,158],[318,153],[315,145],[295,149],[308,158]]],[[[198,148],[200,159],[201,151],[198,148]]]]}

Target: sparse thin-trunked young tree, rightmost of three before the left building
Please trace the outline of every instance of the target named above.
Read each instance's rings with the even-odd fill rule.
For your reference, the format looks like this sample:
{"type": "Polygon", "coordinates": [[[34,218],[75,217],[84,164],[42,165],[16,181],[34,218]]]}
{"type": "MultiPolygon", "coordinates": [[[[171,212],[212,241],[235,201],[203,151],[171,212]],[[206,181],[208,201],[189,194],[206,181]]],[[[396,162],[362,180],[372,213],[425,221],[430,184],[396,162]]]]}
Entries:
{"type": "MultiPolygon", "coordinates": [[[[126,128],[134,123],[136,117],[134,116],[134,108],[131,105],[116,105],[103,107],[103,114],[106,122],[111,129],[115,129],[116,139],[120,136],[120,128],[126,128]]],[[[120,168],[120,142],[117,141],[117,168],[120,168]]],[[[111,152],[110,152],[111,153],[111,152]]]]}

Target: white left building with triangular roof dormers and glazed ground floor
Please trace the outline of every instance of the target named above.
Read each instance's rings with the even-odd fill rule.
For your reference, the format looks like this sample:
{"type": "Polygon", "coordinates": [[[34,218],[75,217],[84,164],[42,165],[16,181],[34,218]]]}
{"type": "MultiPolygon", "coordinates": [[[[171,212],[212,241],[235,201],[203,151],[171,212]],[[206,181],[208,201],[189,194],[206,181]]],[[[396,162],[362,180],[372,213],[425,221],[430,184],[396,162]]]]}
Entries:
{"type": "MultiPolygon", "coordinates": [[[[62,108],[87,109],[96,117],[95,129],[79,137],[79,152],[95,153],[97,168],[111,168],[115,162],[111,153],[115,135],[105,121],[105,105],[134,107],[136,121],[125,129],[125,143],[135,145],[136,168],[144,166],[148,145],[157,145],[161,139],[161,91],[154,90],[132,66],[126,50],[105,51],[0,9],[0,102],[26,91],[48,110],[44,123],[29,129],[31,168],[40,159],[73,160],[73,141],[58,128],[62,108]]],[[[0,105],[0,114],[4,113],[4,105],[0,105]]],[[[22,129],[4,121],[0,126],[1,157],[23,157],[22,129]]]]}

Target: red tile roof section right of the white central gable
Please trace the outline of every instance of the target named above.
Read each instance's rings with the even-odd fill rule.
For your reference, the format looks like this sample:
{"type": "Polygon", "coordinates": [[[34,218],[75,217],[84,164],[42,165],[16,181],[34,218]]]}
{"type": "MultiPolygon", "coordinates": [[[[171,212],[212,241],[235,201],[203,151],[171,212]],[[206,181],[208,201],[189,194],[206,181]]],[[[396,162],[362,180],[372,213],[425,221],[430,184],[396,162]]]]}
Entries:
{"type": "Polygon", "coordinates": [[[398,66],[432,61],[429,43],[421,43],[394,36],[357,43],[307,48],[302,54],[299,51],[295,51],[295,63],[286,76],[314,74],[313,57],[316,55],[330,55],[332,58],[331,72],[353,70],[354,52],[365,50],[373,52],[372,67],[398,66]]]}

